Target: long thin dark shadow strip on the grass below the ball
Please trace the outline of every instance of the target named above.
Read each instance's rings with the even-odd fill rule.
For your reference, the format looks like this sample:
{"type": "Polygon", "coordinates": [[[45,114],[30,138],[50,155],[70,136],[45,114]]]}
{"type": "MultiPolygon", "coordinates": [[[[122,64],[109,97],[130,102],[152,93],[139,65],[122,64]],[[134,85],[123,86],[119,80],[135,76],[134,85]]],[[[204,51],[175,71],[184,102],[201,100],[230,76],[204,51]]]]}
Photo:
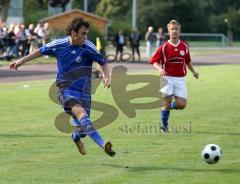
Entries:
{"type": "Polygon", "coordinates": [[[131,165],[120,165],[120,164],[102,164],[105,167],[112,167],[118,169],[126,169],[130,172],[146,172],[146,171],[175,171],[175,172],[220,172],[220,173],[240,173],[240,168],[217,168],[214,166],[205,169],[194,169],[194,168],[183,168],[183,167],[163,167],[163,166],[131,166],[131,165]]]}

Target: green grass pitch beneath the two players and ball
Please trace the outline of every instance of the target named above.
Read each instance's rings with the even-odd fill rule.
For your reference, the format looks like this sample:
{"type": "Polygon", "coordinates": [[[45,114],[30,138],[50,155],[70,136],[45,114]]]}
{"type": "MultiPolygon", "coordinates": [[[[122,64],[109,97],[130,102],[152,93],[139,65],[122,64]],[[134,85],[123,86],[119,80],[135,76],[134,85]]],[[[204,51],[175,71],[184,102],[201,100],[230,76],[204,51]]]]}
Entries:
{"type": "MultiPolygon", "coordinates": [[[[0,183],[239,183],[240,65],[197,70],[199,80],[187,77],[187,108],[171,112],[170,125],[178,132],[149,131],[158,127],[159,109],[138,110],[135,118],[119,111],[113,123],[99,130],[114,144],[115,158],[89,138],[88,153],[81,156],[70,134],[55,128],[54,119],[62,111],[48,97],[53,81],[0,84],[0,183]],[[209,143],[223,150],[218,164],[201,159],[201,149],[209,143]]],[[[117,108],[111,96],[101,86],[93,100],[117,108]]],[[[93,119],[98,115],[92,111],[93,119]]]]}

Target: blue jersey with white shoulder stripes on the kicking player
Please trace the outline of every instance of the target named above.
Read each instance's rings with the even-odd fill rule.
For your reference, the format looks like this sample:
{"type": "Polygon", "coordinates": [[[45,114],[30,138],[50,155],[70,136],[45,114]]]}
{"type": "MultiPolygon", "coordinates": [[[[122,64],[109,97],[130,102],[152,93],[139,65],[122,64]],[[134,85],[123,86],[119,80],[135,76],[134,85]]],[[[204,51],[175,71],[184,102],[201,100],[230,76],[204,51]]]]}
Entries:
{"type": "Polygon", "coordinates": [[[69,37],[56,39],[40,48],[41,54],[57,58],[57,86],[89,93],[93,61],[100,65],[105,59],[89,40],[81,46],[71,45],[69,37]]]}

